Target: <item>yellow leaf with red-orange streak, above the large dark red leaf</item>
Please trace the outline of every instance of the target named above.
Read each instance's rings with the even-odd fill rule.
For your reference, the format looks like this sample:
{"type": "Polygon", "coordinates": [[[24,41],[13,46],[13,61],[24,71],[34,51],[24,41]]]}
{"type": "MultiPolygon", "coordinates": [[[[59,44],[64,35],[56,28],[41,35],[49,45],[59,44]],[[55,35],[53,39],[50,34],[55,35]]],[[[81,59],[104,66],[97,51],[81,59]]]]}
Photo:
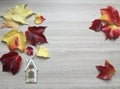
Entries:
{"type": "Polygon", "coordinates": [[[26,37],[23,32],[18,32],[17,30],[11,30],[5,34],[2,38],[3,42],[6,42],[10,51],[14,49],[19,49],[21,51],[25,50],[26,37]]]}

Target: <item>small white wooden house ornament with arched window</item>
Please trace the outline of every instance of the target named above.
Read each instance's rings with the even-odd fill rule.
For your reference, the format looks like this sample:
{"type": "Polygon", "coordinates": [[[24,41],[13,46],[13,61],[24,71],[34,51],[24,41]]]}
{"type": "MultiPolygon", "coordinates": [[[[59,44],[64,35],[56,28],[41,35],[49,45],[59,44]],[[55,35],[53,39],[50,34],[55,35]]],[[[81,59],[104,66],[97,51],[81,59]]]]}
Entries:
{"type": "Polygon", "coordinates": [[[25,68],[25,81],[26,83],[37,83],[38,68],[33,59],[30,59],[25,68]]]}

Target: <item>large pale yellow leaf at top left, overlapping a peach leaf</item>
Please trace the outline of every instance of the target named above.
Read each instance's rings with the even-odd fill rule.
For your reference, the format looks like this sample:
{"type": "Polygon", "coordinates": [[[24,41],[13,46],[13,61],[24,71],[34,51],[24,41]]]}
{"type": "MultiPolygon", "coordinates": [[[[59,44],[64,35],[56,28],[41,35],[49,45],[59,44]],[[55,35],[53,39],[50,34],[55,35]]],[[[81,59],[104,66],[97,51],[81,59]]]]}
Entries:
{"type": "Polygon", "coordinates": [[[12,19],[16,22],[20,22],[22,24],[28,24],[26,18],[33,14],[32,10],[26,8],[27,4],[19,4],[13,7],[11,10],[8,10],[3,18],[12,19]]]}

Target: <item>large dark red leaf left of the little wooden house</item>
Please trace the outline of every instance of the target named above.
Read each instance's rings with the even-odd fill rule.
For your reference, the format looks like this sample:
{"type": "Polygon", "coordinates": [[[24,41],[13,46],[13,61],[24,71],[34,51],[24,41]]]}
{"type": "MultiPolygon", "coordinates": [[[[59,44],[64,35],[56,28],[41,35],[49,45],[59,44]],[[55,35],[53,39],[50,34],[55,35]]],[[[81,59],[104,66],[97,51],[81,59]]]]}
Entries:
{"type": "Polygon", "coordinates": [[[15,75],[20,69],[22,58],[17,52],[9,52],[4,54],[0,58],[0,61],[3,64],[3,71],[12,72],[12,74],[15,75]]]}

